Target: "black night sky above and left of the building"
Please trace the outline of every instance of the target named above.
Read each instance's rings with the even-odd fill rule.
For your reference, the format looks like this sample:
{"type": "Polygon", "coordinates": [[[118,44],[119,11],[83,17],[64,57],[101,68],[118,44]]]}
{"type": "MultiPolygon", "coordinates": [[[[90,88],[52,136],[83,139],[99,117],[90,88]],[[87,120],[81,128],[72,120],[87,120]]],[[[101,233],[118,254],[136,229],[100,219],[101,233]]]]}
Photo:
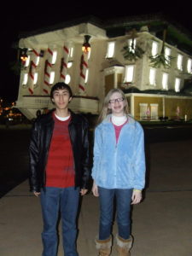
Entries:
{"type": "Polygon", "coordinates": [[[33,31],[40,27],[54,25],[61,21],[74,19],[84,15],[95,15],[98,18],[108,19],[130,15],[164,14],[176,20],[184,28],[192,32],[192,3],[175,1],[173,7],[166,6],[168,0],[154,1],[63,1],[53,3],[40,1],[5,3],[1,9],[1,83],[0,96],[9,101],[16,101],[18,96],[19,77],[9,69],[9,62],[16,60],[16,50],[12,44],[18,40],[20,32],[33,31]],[[38,3],[39,2],[39,3],[38,3]],[[70,3],[67,3],[70,2],[70,3]],[[102,4],[105,3],[105,6],[102,4]],[[108,8],[108,3],[110,7],[108,8]],[[15,5],[13,5],[15,4],[15,5]]]}

